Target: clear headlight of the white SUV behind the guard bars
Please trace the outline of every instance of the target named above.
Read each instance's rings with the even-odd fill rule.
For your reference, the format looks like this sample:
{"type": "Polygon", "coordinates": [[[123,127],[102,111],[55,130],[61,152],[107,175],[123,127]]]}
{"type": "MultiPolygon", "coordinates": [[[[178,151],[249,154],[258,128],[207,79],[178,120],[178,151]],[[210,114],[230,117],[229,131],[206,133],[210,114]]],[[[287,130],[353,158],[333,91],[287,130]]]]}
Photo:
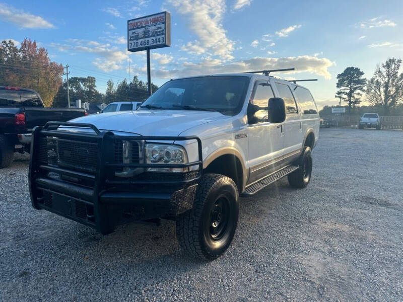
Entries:
{"type": "MultiPolygon", "coordinates": [[[[171,144],[146,144],[147,164],[186,164],[186,150],[171,144]]],[[[150,172],[187,172],[188,168],[148,168],[150,172]]]]}

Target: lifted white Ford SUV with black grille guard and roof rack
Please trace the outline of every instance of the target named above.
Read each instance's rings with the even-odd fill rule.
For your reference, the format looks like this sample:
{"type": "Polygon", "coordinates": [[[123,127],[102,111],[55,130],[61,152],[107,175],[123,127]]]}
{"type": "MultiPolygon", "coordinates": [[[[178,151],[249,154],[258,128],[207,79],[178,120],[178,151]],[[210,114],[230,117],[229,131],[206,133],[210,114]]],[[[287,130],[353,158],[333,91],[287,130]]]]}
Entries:
{"type": "Polygon", "coordinates": [[[33,131],[32,205],[102,234],[126,219],[176,220],[182,249],[215,259],[239,196],[288,176],[308,185],[319,115],[310,92],[254,73],[171,80],[136,111],[33,131]]]}

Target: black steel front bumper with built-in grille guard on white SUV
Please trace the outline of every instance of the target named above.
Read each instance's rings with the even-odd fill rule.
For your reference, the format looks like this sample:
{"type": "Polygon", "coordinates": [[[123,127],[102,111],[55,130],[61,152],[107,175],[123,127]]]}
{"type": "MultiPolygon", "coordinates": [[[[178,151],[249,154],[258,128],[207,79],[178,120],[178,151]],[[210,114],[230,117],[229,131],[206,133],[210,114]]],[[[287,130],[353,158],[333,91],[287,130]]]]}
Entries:
{"type": "MultiPolygon", "coordinates": [[[[91,130],[90,130],[91,131],[91,130]]],[[[140,146],[140,144],[139,144],[140,146]]],[[[54,151],[54,150],[52,150],[54,151]]],[[[45,152],[48,152],[47,150],[45,152]]],[[[58,151],[57,151],[58,152],[58,151]]],[[[153,174],[152,172],[145,174],[153,174]]],[[[185,172],[166,173],[166,175],[184,175],[185,172]]],[[[178,214],[192,207],[197,180],[203,174],[203,156],[201,140],[197,136],[139,136],[116,135],[111,131],[100,131],[92,124],[71,122],[48,122],[45,126],[37,126],[32,132],[31,159],[29,164],[29,190],[32,206],[45,209],[61,216],[92,226],[98,232],[107,234],[120,219],[124,206],[134,206],[146,211],[155,211],[156,217],[160,208],[168,208],[163,214],[178,214]],[[62,131],[59,126],[92,129],[93,132],[62,131]],[[96,166],[94,173],[75,171],[69,167],[43,163],[40,160],[41,138],[61,140],[90,140],[96,145],[96,166]],[[156,142],[195,140],[197,141],[198,160],[186,164],[145,164],[114,162],[114,142],[116,140],[156,142]],[[191,168],[197,166],[191,177],[175,180],[149,178],[122,178],[116,180],[114,172],[122,168],[191,168]],[[62,179],[49,177],[49,174],[61,176],[62,179]],[[63,179],[64,177],[64,179],[63,179]],[[65,179],[80,180],[77,182],[65,179]],[[82,185],[91,183],[92,185],[82,185]],[[164,187],[160,190],[157,185],[164,187]],[[122,191],[116,188],[125,188],[122,191]],[[144,188],[148,189],[144,189],[144,188]],[[113,189],[111,189],[113,188],[113,189]],[[131,189],[132,188],[132,189],[131,189]],[[137,188],[142,188],[138,190],[137,188]],[[151,189],[150,189],[151,188],[151,189]],[[167,189],[168,188],[168,189],[167,189]]],[[[153,213],[151,213],[153,215],[153,213]]],[[[146,215],[147,216],[147,215],[146,215]]],[[[146,217],[145,216],[145,217],[146,217]]]]}

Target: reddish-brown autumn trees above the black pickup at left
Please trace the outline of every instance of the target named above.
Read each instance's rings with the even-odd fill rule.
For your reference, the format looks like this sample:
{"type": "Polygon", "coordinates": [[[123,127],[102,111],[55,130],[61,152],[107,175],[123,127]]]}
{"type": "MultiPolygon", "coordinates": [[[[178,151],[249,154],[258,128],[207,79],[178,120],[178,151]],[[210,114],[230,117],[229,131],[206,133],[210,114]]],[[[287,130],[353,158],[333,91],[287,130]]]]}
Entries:
{"type": "Polygon", "coordinates": [[[63,66],[31,39],[24,39],[19,49],[12,41],[0,45],[0,83],[36,90],[46,107],[52,106],[62,74],[63,66]]]}

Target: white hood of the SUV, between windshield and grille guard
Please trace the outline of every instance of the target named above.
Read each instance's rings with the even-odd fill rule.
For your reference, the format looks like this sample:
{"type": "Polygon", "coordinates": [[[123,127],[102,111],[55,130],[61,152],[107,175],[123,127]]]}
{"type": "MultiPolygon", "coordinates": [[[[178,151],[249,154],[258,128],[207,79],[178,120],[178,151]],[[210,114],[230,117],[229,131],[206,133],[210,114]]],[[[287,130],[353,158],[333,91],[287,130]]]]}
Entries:
{"type": "Polygon", "coordinates": [[[219,112],[195,110],[137,110],[91,114],[70,122],[93,124],[100,130],[139,135],[177,136],[190,128],[228,118],[219,112]]]}

